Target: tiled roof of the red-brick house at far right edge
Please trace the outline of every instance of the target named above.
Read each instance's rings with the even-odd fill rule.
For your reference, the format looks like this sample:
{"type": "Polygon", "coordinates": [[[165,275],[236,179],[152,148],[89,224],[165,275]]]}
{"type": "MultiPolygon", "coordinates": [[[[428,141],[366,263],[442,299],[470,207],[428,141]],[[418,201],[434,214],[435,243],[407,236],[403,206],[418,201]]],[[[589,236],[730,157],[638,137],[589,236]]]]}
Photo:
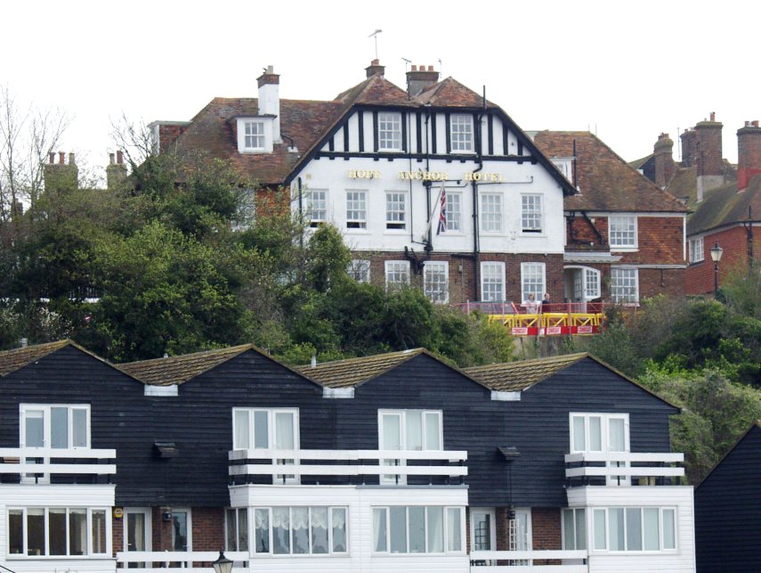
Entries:
{"type": "Polygon", "coordinates": [[[708,192],[687,220],[687,234],[748,221],[748,208],[758,221],[761,218],[761,176],[753,177],[743,192],[737,192],[736,183],[708,192]]]}

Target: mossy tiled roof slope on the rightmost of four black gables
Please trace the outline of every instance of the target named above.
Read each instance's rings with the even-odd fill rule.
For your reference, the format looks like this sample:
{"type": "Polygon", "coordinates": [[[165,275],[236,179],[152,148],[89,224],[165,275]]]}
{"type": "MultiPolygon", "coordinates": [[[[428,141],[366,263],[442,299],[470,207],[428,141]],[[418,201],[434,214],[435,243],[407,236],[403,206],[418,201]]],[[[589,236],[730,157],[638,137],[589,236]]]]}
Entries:
{"type": "Polygon", "coordinates": [[[586,352],[582,352],[552,358],[487,364],[466,368],[464,372],[490,389],[514,392],[528,389],[587,356],[589,355],[586,352]]]}

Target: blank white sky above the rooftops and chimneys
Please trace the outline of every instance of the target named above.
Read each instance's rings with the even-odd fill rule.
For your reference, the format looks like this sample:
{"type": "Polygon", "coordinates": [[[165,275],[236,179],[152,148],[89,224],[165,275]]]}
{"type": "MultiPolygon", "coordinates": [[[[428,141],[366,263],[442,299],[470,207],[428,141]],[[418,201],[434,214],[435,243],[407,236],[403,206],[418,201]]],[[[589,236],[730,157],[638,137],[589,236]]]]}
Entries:
{"type": "Polygon", "coordinates": [[[626,160],[716,111],[724,155],[761,119],[761,3],[446,0],[365,3],[14,0],[2,9],[0,85],[72,117],[61,151],[105,166],[111,120],[190,119],[215,96],[332,99],[365,78],[376,29],[385,76],[433,64],[523,129],[596,132],[626,160]],[[439,60],[441,59],[441,64],[439,60]]]}

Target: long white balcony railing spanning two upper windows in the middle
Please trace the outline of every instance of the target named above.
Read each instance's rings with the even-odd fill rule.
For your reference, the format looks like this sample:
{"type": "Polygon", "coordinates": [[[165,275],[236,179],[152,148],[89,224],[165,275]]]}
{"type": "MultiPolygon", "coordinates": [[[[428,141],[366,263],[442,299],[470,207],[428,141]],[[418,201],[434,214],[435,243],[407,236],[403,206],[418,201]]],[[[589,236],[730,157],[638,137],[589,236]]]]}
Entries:
{"type": "Polygon", "coordinates": [[[231,476],[436,476],[467,475],[466,451],[408,450],[232,450],[231,476]],[[266,463],[266,462],[270,463],[266,463]],[[425,465],[421,462],[428,462],[425,465]],[[451,465],[453,463],[460,465],[451,465]]]}

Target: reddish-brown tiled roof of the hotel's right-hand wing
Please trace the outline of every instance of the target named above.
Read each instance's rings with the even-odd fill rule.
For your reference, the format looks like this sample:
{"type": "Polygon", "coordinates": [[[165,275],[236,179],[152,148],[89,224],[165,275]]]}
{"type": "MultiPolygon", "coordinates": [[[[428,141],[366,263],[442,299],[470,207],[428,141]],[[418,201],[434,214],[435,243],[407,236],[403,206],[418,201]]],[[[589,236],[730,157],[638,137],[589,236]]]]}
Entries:
{"type": "Polygon", "coordinates": [[[534,143],[547,157],[573,156],[580,194],[566,197],[566,210],[679,212],[687,209],[586,131],[540,131],[534,143]]]}

